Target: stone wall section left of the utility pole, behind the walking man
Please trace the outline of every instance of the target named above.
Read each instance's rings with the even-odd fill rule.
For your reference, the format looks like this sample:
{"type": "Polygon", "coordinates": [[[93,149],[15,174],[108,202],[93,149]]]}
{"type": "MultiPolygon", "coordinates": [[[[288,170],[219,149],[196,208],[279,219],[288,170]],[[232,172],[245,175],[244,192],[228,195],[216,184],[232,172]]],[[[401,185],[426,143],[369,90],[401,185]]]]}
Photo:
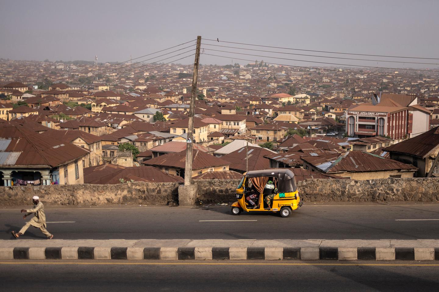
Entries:
{"type": "Polygon", "coordinates": [[[50,185],[0,187],[0,205],[25,205],[39,196],[45,204],[166,205],[178,200],[178,183],[134,182],[115,185],[50,185]]]}

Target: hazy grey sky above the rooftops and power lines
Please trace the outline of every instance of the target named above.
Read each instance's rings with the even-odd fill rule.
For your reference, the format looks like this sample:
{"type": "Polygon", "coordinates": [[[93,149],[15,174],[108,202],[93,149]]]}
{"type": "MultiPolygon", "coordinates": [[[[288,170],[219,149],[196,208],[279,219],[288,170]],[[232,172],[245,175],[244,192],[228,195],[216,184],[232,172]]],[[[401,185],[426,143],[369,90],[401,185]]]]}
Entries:
{"type": "MultiPolygon", "coordinates": [[[[129,60],[130,55],[136,58],[196,39],[197,35],[288,48],[439,58],[438,10],[438,0],[0,0],[0,58],[67,61],[94,60],[94,55],[97,55],[99,62],[121,62],[129,60]]],[[[223,50],[238,52],[237,49],[223,50]]],[[[208,50],[205,53],[221,54],[208,50]]],[[[249,60],[319,66],[309,62],[222,54],[249,60]]],[[[281,56],[262,52],[254,54],[281,56]]],[[[377,65],[377,62],[294,55],[282,57],[382,67],[428,66],[384,62],[377,65]]],[[[189,64],[193,60],[191,56],[179,62],[189,64]]],[[[231,60],[202,55],[200,62],[227,64],[231,60]]],[[[439,63],[439,60],[421,62],[439,63]]]]}

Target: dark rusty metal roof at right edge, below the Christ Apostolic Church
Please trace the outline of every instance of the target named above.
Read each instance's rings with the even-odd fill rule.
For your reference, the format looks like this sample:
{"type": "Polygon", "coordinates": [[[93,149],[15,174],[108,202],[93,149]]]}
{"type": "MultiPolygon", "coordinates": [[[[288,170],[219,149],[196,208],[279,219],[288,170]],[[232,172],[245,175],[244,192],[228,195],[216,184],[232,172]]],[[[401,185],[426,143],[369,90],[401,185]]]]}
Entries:
{"type": "Polygon", "coordinates": [[[384,151],[409,154],[419,158],[432,155],[432,151],[439,145],[439,127],[435,127],[416,137],[390,145],[384,151]]]}

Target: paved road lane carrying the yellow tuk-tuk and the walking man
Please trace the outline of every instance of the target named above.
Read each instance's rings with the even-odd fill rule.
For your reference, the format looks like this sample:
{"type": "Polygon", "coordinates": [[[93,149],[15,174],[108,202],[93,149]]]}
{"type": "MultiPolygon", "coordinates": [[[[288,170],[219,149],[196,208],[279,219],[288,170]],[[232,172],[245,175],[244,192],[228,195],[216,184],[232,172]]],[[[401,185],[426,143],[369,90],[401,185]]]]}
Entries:
{"type": "MultiPolygon", "coordinates": [[[[230,207],[198,209],[167,206],[47,208],[46,216],[49,222],[47,229],[56,239],[439,238],[439,204],[305,205],[289,218],[271,213],[233,216],[230,207]]],[[[18,231],[25,220],[17,209],[2,209],[0,222],[0,239],[12,239],[11,230],[18,231]]],[[[21,237],[36,238],[43,239],[44,236],[39,229],[32,227],[21,237]]]]}

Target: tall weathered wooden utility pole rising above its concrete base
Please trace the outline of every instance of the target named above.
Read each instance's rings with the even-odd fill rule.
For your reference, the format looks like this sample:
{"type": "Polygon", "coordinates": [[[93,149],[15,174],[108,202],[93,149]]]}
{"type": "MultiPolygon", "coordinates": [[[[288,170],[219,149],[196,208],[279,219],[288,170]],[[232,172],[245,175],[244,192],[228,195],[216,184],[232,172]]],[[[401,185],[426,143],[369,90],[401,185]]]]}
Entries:
{"type": "Polygon", "coordinates": [[[194,143],[194,113],[195,99],[197,98],[198,63],[200,61],[201,36],[197,37],[197,49],[195,50],[194,74],[192,75],[192,95],[189,105],[189,119],[187,125],[186,165],[184,167],[184,185],[192,183],[192,148],[194,143]]]}

